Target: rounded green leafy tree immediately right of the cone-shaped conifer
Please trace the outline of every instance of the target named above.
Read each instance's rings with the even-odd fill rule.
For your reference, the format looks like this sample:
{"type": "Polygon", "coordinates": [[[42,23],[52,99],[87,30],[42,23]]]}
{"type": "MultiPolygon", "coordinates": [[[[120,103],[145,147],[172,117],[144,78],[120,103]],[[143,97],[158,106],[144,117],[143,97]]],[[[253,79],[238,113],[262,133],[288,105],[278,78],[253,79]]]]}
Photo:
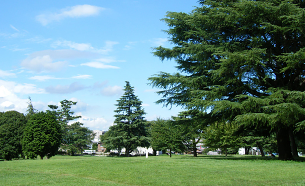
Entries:
{"type": "Polygon", "coordinates": [[[150,122],[150,145],[154,150],[167,150],[183,153],[186,137],[180,126],[175,126],[171,120],[157,118],[150,122]]]}

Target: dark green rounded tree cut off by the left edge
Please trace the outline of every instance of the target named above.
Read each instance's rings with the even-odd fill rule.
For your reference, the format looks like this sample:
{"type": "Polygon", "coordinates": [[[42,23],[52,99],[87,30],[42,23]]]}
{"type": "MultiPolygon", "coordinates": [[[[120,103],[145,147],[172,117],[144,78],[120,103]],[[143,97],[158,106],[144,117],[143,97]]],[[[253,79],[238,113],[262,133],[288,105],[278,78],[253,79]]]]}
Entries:
{"type": "Polygon", "coordinates": [[[0,113],[0,159],[23,156],[21,140],[26,123],[26,117],[17,111],[0,113]]]}

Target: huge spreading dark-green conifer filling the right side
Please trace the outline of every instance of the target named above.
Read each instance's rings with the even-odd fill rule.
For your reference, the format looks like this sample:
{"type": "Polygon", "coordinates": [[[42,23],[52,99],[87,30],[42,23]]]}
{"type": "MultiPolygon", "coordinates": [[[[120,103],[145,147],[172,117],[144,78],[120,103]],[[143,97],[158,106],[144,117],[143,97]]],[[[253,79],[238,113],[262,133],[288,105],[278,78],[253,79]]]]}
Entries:
{"type": "Polygon", "coordinates": [[[292,159],[293,131],[305,123],[305,107],[296,101],[305,91],[305,3],[199,3],[189,14],[168,12],[163,19],[175,46],[157,47],[154,54],[175,59],[182,73],[149,78],[164,89],[158,103],[211,111],[211,123],[237,119],[240,125],[271,127],[279,159],[292,159]]]}

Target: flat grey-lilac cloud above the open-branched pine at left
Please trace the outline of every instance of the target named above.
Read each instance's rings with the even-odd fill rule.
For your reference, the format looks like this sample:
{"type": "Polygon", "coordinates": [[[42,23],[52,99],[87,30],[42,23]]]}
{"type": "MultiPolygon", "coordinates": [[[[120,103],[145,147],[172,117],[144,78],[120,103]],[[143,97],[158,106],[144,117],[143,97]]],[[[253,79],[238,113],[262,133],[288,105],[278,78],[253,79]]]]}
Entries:
{"type": "Polygon", "coordinates": [[[79,90],[83,90],[85,88],[87,87],[85,87],[82,84],[79,84],[78,82],[74,82],[70,85],[57,85],[55,87],[51,85],[45,88],[45,90],[48,93],[52,93],[52,94],[68,94],[79,90]]]}

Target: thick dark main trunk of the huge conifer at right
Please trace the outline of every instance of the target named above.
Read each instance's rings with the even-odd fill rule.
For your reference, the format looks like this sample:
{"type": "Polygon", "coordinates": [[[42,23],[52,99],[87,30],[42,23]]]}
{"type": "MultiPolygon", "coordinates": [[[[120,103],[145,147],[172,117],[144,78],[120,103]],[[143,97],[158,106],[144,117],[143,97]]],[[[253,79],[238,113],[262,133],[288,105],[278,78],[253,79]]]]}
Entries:
{"type": "Polygon", "coordinates": [[[287,128],[279,129],[276,133],[278,142],[278,159],[292,160],[291,146],[287,128]]]}

